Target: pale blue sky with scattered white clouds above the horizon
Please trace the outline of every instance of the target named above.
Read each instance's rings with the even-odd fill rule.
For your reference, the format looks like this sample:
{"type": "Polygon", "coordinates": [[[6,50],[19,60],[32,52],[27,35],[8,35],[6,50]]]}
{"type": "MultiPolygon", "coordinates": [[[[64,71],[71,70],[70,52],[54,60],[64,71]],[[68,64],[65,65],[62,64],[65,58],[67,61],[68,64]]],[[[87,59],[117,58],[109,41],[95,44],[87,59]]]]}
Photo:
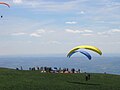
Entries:
{"type": "Polygon", "coordinates": [[[0,55],[120,54],[120,0],[0,0],[0,55]]]}

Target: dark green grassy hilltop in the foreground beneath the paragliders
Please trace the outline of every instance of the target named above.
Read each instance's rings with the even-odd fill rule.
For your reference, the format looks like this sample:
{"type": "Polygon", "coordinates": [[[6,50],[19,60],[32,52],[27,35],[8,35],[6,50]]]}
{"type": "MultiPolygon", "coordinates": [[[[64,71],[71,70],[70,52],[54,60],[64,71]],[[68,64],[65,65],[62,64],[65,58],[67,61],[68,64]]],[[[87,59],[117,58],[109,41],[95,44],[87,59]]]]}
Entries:
{"type": "Polygon", "coordinates": [[[53,74],[0,68],[0,90],[120,90],[120,75],[53,74]]]}

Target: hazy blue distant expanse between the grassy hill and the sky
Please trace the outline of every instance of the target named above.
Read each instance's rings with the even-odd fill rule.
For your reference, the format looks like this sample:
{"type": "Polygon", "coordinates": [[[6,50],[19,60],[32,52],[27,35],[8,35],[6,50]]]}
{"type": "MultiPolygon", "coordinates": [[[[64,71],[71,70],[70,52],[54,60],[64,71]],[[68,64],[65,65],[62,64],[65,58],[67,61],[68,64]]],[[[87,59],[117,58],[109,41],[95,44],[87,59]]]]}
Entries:
{"type": "Polygon", "coordinates": [[[29,70],[32,67],[52,67],[80,69],[81,72],[108,73],[120,75],[120,56],[94,57],[88,60],[85,57],[41,57],[41,56],[1,56],[0,67],[22,68],[29,70]]]}

